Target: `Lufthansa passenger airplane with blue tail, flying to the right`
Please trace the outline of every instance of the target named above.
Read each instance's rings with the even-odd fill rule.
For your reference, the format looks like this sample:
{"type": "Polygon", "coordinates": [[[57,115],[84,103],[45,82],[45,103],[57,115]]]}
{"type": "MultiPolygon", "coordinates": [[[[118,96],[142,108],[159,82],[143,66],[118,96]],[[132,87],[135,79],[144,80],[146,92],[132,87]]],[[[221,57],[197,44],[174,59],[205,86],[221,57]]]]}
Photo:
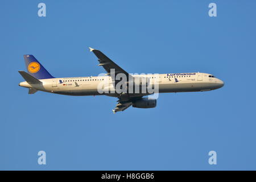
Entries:
{"type": "MultiPolygon", "coordinates": [[[[43,92],[64,94],[68,96],[99,96],[105,95],[117,97],[118,103],[112,110],[113,113],[123,111],[130,106],[138,108],[156,107],[156,99],[144,97],[152,94],[148,92],[147,86],[151,85],[154,93],[177,93],[177,92],[203,92],[221,88],[224,82],[209,73],[166,73],[166,74],[145,74],[131,75],[124,69],[119,67],[109,57],[101,51],[89,48],[97,56],[98,61],[105,71],[103,76],[88,77],[53,77],[33,55],[24,55],[25,64],[28,72],[18,71],[25,81],[20,82],[19,86],[28,88],[28,94],[34,94],[38,90],[43,92]],[[129,77],[129,79],[117,79],[118,74],[129,77]],[[136,79],[141,79],[135,81],[136,79]],[[142,81],[142,78],[146,81],[142,81]],[[99,84],[107,82],[102,86],[105,92],[99,92],[99,84]],[[125,83],[126,91],[117,92],[117,85],[121,81],[125,83]],[[133,81],[130,83],[130,81],[133,81]],[[131,85],[131,87],[129,86],[131,85]],[[139,92],[135,92],[135,86],[139,92]],[[146,88],[146,92],[142,92],[142,88],[146,88]],[[158,89],[155,89],[158,87],[158,89]],[[108,92],[106,92],[108,90],[108,92]],[[131,90],[131,92],[130,92],[131,90]],[[110,91],[110,92],[109,92],[110,91]]],[[[138,80],[137,79],[137,80],[138,80]]],[[[121,89],[122,86],[120,86],[121,89]]],[[[138,91],[137,90],[137,91],[138,91]]]]}

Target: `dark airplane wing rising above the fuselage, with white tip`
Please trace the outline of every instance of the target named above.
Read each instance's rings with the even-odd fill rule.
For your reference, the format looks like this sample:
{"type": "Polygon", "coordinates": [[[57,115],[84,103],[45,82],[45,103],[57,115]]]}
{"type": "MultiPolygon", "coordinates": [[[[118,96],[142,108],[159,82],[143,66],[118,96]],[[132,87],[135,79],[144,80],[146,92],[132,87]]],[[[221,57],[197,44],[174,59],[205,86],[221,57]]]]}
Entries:
{"type": "Polygon", "coordinates": [[[102,53],[99,50],[93,49],[93,48],[90,48],[90,52],[93,52],[98,57],[98,61],[100,62],[100,64],[98,64],[98,66],[102,66],[106,70],[106,72],[107,72],[106,75],[110,75],[110,69],[115,69],[115,75],[117,75],[118,73],[124,73],[128,78],[129,73],[127,73],[125,70],[123,70],[117,64],[115,64],[106,55],[104,55],[104,53],[102,53]]]}

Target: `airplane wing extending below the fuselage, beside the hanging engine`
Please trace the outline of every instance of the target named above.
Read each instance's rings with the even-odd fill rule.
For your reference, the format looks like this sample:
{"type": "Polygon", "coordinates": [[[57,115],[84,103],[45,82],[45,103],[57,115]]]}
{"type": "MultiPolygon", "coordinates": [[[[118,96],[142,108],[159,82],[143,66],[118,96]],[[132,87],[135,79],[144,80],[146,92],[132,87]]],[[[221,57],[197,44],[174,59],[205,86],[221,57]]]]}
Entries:
{"type": "Polygon", "coordinates": [[[142,96],[140,97],[131,97],[129,98],[129,96],[123,96],[123,97],[118,97],[119,100],[117,101],[117,105],[115,106],[115,109],[113,109],[113,113],[115,114],[118,111],[124,111],[126,110],[128,107],[130,107],[131,105],[133,105],[133,101],[141,99],[142,96]],[[128,98],[127,98],[128,97],[128,98]]]}

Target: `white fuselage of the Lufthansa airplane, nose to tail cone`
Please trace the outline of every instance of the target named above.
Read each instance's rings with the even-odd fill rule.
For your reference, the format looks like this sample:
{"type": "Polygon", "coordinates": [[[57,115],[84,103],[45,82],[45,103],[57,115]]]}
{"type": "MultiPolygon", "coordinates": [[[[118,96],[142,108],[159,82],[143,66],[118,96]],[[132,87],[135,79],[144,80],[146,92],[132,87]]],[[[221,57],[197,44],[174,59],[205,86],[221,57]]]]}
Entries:
{"type": "MultiPolygon", "coordinates": [[[[148,77],[150,82],[156,79],[156,75],[138,76],[148,77]]],[[[158,93],[209,91],[224,85],[223,81],[216,77],[209,77],[208,73],[168,73],[157,76],[158,93]]],[[[69,96],[108,95],[116,97],[116,93],[98,92],[98,85],[106,80],[110,82],[109,88],[114,89],[110,76],[50,78],[40,80],[42,84],[28,84],[24,81],[20,82],[19,86],[69,96]]],[[[141,94],[141,96],[146,95],[148,94],[141,94]]]]}

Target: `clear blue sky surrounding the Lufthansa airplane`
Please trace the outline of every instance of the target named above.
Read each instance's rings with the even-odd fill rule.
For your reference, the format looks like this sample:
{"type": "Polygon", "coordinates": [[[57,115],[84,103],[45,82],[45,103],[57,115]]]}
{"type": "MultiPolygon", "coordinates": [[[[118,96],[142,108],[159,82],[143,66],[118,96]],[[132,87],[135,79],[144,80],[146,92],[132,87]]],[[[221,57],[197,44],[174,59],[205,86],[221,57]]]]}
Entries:
{"type": "Polygon", "coordinates": [[[1,1],[0,169],[256,169],[256,1],[1,1]],[[46,3],[46,17],[38,3],[46,3]],[[217,17],[208,5],[217,4],[217,17]],[[130,73],[212,73],[225,86],[160,94],[113,114],[116,99],[27,94],[32,54],[55,77],[97,76],[100,49],[130,73]],[[47,164],[38,165],[38,151],[47,164]],[[217,165],[208,152],[217,152],[217,165]]]}

